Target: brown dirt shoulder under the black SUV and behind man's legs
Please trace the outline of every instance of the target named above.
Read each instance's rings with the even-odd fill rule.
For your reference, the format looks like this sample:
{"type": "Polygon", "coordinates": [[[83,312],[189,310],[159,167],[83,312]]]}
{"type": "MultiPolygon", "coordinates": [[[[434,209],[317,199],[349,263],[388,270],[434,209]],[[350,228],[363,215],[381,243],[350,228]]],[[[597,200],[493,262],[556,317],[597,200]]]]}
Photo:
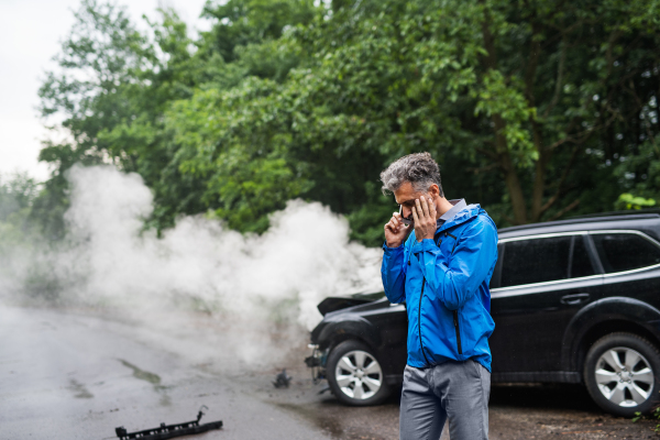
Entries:
{"type": "MultiPolygon", "coordinates": [[[[338,440],[398,439],[398,391],[377,407],[345,407],[329,391],[318,394],[324,383],[312,385],[309,371],[292,361],[289,388],[275,389],[265,372],[257,380],[263,385],[255,391],[265,402],[312,421],[338,440]]],[[[632,422],[603,413],[580,385],[507,384],[494,385],[491,392],[493,440],[651,439],[658,437],[654,426],[650,420],[632,422]]]]}

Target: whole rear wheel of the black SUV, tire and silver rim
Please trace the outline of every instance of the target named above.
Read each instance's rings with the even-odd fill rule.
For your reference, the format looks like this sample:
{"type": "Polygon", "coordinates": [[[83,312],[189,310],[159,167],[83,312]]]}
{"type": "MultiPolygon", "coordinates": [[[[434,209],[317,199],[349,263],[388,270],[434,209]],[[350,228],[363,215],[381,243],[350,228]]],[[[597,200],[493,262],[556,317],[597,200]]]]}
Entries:
{"type": "Polygon", "coordinates": [[[594,402],[607,413],[632,417],[659,403],[660,352],[632,333],[612,333],[586,354],[584,382],[594,402]]]}

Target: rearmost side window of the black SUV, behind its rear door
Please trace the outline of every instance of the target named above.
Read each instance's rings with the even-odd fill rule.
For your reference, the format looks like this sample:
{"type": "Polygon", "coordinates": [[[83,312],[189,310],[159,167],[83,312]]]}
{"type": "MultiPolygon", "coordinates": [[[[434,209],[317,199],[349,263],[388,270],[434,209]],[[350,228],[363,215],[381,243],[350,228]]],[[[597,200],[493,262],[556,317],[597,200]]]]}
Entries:
{"type": "Polygon", "coordinates": [[[592,239],[607,274],[660,264],[660,248],[638,234],[594,233],[592,239]]]}

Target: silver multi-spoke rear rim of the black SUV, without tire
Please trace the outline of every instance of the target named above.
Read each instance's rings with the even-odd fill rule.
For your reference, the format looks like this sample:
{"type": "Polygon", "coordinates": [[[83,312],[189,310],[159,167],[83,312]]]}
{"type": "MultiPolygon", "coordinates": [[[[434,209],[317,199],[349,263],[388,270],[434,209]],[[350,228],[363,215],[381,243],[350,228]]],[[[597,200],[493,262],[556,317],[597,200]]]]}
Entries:
{"type": "Polygon", "coordinates": [[[603,396],[622,407],[644,404],[653,389],[653,370],[639,352],[617,346],[598,358],[595,380],[603,396]]]}

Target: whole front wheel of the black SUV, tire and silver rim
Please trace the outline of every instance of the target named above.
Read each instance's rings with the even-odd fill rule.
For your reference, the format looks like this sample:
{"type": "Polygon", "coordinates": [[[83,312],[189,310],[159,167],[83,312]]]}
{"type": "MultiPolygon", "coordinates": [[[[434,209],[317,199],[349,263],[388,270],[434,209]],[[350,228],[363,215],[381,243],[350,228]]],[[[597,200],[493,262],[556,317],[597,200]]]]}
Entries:
{"type": "Polygon", "coordinates": [[[326,374],[332,394],[346,405],[376,405],[389,395],[381,363],[359,341],[337,345],[328,356],[326,374]]]}

